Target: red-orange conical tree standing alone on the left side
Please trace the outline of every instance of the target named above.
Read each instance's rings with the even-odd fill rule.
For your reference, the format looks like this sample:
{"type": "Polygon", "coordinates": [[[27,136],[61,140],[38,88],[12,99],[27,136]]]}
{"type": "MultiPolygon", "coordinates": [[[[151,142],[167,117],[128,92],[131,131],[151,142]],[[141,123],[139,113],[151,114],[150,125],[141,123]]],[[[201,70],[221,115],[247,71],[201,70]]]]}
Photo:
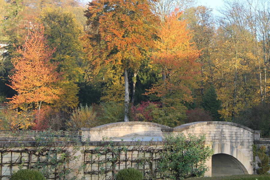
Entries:
{"type": "Polygon", "coordinates": [[[25,105],[35,105],[38,110],[42,102],[51,102],[58,98],[59,88],[54,82],[59,74],[55,64],[50,63],[53,50],[46,45],[44,26],[35,24],[29,29],[25,44],[17,49],[19,56],[12,59],[14,73],[10,77],[10,86],[18,92],[9,98],[13,108],[24,109],[25,105]]]}

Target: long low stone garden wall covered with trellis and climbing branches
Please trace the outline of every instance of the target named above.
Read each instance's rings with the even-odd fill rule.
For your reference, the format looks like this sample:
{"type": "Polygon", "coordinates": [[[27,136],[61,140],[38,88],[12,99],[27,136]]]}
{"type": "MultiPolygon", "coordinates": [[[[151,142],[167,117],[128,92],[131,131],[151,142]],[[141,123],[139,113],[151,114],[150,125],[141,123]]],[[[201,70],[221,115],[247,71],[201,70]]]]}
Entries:
{"type": "Polygon", "coordinates": [[[112,179],[118,170],[128,167],[141,170],[145,177],[161,177],[155,170],[163,142],[126,141],[123,144],[71,142],[63,137],[63,141],[58,141],[59,138],[49,138],[46,146],[39,146],[38,141],[2,141],[0,179],[8,180],[19,169],[32,168],[47,174],[47,179],[112,179]]]}

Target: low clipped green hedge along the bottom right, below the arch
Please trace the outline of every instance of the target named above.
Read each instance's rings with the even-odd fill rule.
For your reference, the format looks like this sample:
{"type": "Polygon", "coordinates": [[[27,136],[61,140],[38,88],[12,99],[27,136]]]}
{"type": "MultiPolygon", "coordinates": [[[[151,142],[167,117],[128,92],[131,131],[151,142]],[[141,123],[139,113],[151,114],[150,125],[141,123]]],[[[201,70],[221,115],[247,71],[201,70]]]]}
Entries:
{"type": "Polygon", "coordinates": [[[197,178],[196,180],[270,180],[270,175],[233,175],[197,178]]]}

